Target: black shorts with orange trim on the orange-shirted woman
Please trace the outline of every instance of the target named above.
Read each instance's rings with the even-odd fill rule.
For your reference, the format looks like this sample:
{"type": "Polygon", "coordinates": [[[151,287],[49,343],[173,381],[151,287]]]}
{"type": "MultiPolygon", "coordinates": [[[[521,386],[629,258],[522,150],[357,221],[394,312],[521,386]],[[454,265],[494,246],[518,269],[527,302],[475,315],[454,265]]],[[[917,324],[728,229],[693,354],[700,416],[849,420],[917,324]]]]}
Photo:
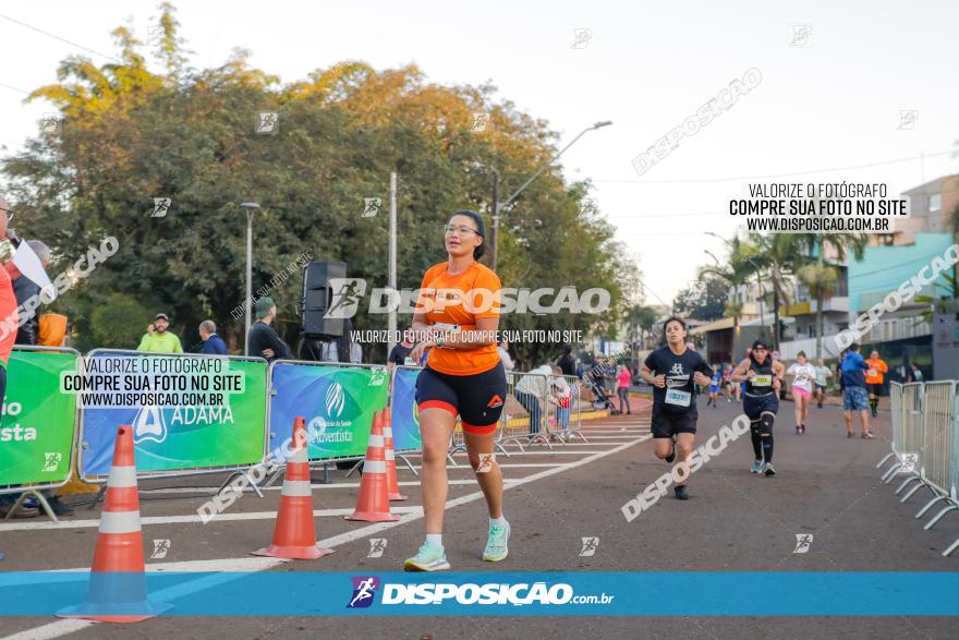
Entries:
{"type": "Polygon", "coordinates": [[[506,372],[499,362],[489,371],[473,375],[450,375],[428,366],[416,378],[416,406],[446,409],[459,415],[463,431],[487,434],[496,431],[506,401],[506,372]]]}

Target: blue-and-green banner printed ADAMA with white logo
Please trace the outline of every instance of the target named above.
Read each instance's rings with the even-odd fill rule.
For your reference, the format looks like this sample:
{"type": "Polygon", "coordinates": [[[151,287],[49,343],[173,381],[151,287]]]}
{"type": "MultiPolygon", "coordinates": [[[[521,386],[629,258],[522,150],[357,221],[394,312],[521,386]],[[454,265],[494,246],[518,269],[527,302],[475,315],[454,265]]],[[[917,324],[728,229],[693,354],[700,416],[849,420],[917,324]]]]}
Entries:
{"type": "Polygon", "coordinates": [[[266,361],[92,352],[85,359],[86,391],[78,394],[81,475],[109,474],[123,424],[133,426],[138,472],[256,464],[265,454],[266,374],[266,361]],[[231,390],[216,404],[194,403],[191,398],[204,396],[182,390],[228,385],[231,390]]]}

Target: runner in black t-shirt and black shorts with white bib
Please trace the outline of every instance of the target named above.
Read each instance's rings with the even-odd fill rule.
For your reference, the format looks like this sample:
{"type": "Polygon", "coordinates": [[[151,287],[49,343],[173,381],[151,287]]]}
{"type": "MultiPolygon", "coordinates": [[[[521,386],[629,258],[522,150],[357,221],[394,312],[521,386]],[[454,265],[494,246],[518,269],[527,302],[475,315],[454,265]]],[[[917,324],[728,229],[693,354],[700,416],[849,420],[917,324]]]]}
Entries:
{"type": "MultiPolygon", "coordinates": [[[[672,464],[685,461],[696,434],[696,386],[709,384],[713,370],[703,357],[685,346],[685,323],[671,317],[664,325],[666,347],[650,353],[642,376],[653,385],[653,443],[656,457],[672,464]]],[[[676,485],[676,497],[689,499],[688,478],[676,485]]]]}

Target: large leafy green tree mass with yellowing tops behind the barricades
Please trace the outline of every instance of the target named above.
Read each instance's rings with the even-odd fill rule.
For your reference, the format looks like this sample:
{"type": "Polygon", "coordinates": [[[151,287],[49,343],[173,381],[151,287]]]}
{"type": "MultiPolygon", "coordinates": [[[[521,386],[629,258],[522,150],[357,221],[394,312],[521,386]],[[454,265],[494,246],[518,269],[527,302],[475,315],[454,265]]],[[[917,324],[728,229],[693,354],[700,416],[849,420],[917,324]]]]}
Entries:
{"type": "MultiPolygon", "coordinates": [[[[396,171],[398,286],[415,289],[426,268],[446,258],[441,227],[450,214],[466,207],[488,216],[489,168],[509,192],[556,153],[558,135],[497,100],[490,85],[442,86],[415,65],[378,71],[359,61],[282,84],[252,68],[243,50],[220,67],[194,69],[172,5],[160,7],[158,22],[162,72],[147,69],[143,44],[129,29],[116,29],[116,62],[68,58],[58,83],[34,92],[32,99],[59,107],[62,125],[0,165],[21,212],[21,234],[43,239],[68,259],[106,236],[119,239],[118,254],[75,292],[84,303],[57,304],[94,309],[86,303],[123,293],[150,301],[191,331],[211,318],[231,348],[242,350],[243,316],[235,310],[245,293],[246,217],[240,203],[262,205],[254,219],[254,291],[304,251],[314,261],[345,262],[350,276],[384,287],[388,229],[383,214],[363,217],[364,198],[380,197],[386,210],[396,171]],[[477,111],[489,114],[486,131],[472,131],[477,111]],[[278,114],[278,129],[257,133],[260,113],[269,112],[278,114]],[[154,215],[155,198],[170,198],[166,215],[154,215]]],[[[621,317],[635,265],[614,229],[584,210],[588,190],[565,183],[560,166],[537,178],[505,215],[499,275],[505,287],[604,288],[610,312],[514,314],[505,316],[503,328],[604,331],[621,317]]],[[[270,291],[290,343],[298,341],[301,282],[290,277],[270,291]]],[[[386,327],[385,315],[361,309],[356,328],[386,327]]],[[[153,313],[126,319],[139,328],[153,313]]],[[[81,335],[94,335],[90,314],[74,319],[81,335]]],[[[555,347],[518,349],[533,361],[555,347]]]]}

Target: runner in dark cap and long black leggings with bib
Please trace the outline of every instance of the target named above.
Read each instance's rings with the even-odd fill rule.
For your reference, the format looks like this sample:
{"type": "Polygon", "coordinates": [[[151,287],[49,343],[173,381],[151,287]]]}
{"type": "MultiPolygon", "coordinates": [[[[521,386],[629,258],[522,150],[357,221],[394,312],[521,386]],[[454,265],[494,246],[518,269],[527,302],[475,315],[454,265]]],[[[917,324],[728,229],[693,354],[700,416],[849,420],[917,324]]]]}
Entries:
{"type": "Polygon", "coordinates": [[[752,432],[753,473],[775,475],[773,468],[773,424],[779,411],[779,388],[786,367],[769,355],[769,348],[763,340],[753,342],[749,358],[739,363],[732,372],[733,382],[745,382],[742,410],[750,419],[752,432]]]}

